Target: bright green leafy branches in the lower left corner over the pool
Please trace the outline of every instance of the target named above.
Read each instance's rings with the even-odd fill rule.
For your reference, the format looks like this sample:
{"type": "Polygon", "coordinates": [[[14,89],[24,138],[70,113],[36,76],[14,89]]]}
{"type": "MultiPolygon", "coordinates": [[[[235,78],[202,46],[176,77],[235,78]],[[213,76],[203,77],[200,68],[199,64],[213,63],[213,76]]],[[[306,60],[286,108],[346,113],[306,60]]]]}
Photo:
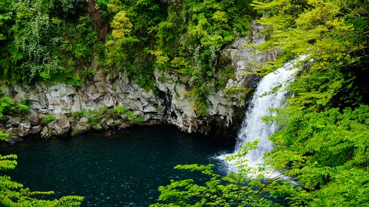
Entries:
{"type": "MultiPolygon", "coordinates": [[[[0,155],[0,170],[13,170],[17,166],[17,155],[0,155]]],[[[23,184],[12,181],[6,175],[0,175],[0,205],[1,206],[81,206],[84,197],[65,196],[60,199],[37,199],[39,196],[54,194],[53,191],[30,191],[23,184]]]]}

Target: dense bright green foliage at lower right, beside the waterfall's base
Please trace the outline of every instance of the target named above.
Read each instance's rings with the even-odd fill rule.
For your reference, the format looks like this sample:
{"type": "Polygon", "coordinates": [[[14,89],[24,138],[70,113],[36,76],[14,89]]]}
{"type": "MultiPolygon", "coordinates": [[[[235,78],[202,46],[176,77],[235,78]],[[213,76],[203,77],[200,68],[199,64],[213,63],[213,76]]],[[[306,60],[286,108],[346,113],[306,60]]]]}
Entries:
{"type": "Polygon", "coordinates": [[[312,206],[368,203],[369,107],[286,115],[269,164],[303,184],[312,206]]]}

